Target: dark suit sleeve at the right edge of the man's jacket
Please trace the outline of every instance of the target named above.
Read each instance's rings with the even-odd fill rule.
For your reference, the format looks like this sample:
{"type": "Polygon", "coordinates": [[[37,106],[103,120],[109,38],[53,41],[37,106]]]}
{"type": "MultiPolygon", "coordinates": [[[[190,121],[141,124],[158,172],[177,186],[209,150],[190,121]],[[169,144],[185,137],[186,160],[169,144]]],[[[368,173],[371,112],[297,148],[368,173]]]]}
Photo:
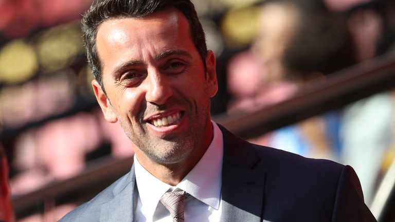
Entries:
{"type": "Polygon", "coordinates": [[[332,221],[377,221],[366,206],[360,180],[349,165],[340,172],[332,221]]]}

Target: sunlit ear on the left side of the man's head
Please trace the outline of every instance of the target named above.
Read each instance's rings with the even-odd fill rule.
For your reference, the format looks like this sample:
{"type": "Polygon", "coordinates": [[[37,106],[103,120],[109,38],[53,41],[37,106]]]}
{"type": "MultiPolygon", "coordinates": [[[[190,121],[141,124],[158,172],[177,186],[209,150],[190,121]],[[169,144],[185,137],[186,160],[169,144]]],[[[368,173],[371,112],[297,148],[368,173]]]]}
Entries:
{"type": "Polygon", "coordinates": [[[107,98],[107,96],[105,95],[100,84],[96,80],[93,80],[92,87],[93,87],[93,91],[95,92],[97,102],[99,103],[99,105],[101,107],[101,111],[104,114],[104,119],[107,120],[108,122],[111,122],[111,123],[117,122],[118,118],[117,118],[117,115],[116,115],[115,110],[113,108],[113,105],[111,104],[111,102],[107,98]]]}

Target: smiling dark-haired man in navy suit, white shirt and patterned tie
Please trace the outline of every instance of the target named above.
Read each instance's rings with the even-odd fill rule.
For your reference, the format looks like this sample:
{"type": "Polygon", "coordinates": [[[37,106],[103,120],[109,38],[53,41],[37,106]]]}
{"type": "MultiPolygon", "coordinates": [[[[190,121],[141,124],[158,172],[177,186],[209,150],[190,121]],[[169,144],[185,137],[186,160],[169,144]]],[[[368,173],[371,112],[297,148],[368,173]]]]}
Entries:
{"type": "Polygon", "coordinates": [[[61,221],[375,221],[351,167],[250,144],[210,120],[215,58],[189,0],[99,1],[83,31],[96,98],[135,157],[61,221]]]}

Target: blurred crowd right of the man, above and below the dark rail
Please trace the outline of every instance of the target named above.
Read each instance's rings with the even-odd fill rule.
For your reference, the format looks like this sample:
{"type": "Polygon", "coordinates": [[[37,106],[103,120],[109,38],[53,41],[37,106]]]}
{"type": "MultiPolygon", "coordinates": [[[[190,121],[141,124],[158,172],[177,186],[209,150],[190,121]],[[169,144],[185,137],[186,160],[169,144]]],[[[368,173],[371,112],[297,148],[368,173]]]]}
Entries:
{"type": "MultiPolygon", "coordinates": [[[[254,110],[295,95],[395,46],[395,2],[267,0],[258,35],[229,63],[228,113],[254,110]]],[[[371,203],[395,148],[394,92],[309,118],[250,141],[351,165],[371,203]]]]}

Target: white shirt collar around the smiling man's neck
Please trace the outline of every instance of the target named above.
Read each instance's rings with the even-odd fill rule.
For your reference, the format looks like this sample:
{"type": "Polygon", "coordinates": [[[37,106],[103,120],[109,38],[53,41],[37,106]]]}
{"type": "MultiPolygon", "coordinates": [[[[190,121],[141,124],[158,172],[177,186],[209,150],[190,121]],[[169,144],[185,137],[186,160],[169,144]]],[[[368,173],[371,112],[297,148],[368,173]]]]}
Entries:
{"type": "Polygon", "coordinates": [[[134,157],[135,174],[142,210],[153,215],[160,197],[169,189],[186,191],[214,209],[219,209],[222,185],[223,139],[218,125],[211,121],[213,139],[203,157],[184,179],[172,187],[150,174],[134,157]]]}

